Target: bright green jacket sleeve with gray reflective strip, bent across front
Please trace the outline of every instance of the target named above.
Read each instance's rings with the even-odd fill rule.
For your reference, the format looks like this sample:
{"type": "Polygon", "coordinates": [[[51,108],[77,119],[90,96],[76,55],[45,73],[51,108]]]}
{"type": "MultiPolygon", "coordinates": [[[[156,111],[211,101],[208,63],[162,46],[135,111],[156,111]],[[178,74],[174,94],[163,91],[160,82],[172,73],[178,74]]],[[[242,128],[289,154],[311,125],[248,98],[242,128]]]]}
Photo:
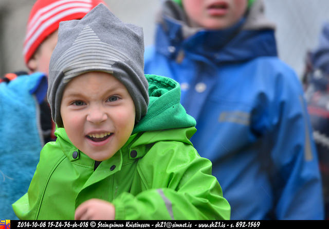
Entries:
{"type": "Polygon", "coordinates": [[[211,162],[184,143],[158,142],[140,160],[144,191],[114,199],[116,219],[229,219],[211,162]]]}

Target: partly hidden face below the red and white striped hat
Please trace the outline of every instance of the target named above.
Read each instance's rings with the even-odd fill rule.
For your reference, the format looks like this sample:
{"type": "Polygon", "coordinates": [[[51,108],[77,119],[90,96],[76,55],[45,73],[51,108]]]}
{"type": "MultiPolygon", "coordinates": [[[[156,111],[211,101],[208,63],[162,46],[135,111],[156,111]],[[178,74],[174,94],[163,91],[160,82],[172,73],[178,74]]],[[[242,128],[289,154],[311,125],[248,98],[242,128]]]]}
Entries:
{"type": "Polygon", "coordinates": [[[50,57],[57,44],[58,30],[51,33],[38,47],[27,66],[31,72],[42,72],[48,76],[50,57]]]}

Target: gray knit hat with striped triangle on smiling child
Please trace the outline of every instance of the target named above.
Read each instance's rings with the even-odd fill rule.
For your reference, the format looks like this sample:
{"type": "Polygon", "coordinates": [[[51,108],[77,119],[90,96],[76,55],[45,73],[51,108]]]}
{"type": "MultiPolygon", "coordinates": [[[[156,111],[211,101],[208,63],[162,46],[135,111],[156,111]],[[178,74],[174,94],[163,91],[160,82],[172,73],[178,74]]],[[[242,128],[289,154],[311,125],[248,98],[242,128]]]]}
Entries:
{"type": "Polygon", "coordinates": [[[65,85],[76,76],[94,71],[112,74],[127,88],[138,122],[149,104],[143,55],[142,29],[121,22],[103,4],[81,20],[61,22],[50,59],[47,92],[57,126],[63,127],[60,107],[65,85]]]}

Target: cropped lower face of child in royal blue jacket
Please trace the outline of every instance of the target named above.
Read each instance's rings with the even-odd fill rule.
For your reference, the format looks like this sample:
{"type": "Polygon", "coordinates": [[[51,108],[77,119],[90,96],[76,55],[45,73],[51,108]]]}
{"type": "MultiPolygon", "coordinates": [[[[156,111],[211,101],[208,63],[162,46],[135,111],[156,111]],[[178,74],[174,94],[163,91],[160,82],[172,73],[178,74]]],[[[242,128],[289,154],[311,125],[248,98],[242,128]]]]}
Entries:
{"type": "Polygon", "coordinates": [[[207,29],[224,29],[237,23],[247,0],[182,0],[191,23],[207,29]]]}

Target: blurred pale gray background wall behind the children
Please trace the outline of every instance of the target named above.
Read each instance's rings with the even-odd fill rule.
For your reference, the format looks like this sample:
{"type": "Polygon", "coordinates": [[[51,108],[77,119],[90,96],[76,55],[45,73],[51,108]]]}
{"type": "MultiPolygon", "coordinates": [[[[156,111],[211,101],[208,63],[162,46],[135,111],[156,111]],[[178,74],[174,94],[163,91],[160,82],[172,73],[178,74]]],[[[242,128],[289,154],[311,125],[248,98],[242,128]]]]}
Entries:
{"type": "MultiPolygon", "coordinates": [[[[145,46],[153,43],[160,0],[104,0],[122,21],[143,27],[145,46]]],[[[0,0],[0,75],[26,70],[22,49],[29,10],[35,0],[0,0]]],[[[301,75],[307,50],[316,47],[321,26],[329,21],[328,0],[264,0],[276,23],[280,58],[301,75]]]]}

